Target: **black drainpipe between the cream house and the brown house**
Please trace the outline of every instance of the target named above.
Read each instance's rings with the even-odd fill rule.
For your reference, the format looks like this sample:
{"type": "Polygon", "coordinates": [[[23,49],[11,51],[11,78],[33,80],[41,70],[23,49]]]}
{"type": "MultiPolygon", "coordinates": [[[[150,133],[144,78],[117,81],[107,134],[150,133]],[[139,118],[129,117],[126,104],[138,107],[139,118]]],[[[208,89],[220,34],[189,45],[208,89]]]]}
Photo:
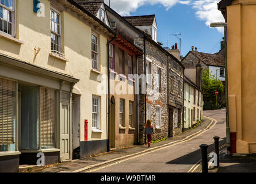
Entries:
{"type": "Polygon", "coordinates": [[[107,42],[107,47],[108,47],[108,140],[106,141],[106,148],[107,152],[110,151],[110,145],[109,145],[109,140],[110,140],[110,67],[109,67],[109,44],[112,43],[112,41],[116,40],[116,34],[114,34],[114,37],[112,40],[107,42]]]}

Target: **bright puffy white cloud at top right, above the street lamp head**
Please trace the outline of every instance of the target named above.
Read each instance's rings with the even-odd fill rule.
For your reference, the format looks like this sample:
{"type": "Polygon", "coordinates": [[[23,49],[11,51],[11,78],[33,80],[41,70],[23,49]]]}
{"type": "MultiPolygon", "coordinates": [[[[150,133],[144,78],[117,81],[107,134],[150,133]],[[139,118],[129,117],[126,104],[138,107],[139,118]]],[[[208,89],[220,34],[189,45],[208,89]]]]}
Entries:
{"type": "MultiPolygon", "coordinates": [[[[219,0],[197,0],[192,3],[192,7],[196,9],[196,16],[209,26],[212,22],[225,21],[221,12],[217,9],[218,2],[219,0]]],[[[223,28],[217,28],[217,30],[223,33],[223,28]]]]}

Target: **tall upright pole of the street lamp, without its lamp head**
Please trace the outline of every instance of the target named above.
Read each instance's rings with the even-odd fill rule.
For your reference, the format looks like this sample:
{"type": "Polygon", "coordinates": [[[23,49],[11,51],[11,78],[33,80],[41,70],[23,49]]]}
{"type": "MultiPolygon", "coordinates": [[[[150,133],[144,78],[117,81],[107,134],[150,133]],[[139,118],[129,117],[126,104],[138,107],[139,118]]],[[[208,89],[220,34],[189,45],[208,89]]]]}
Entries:
{"type": "Polygon", "coordinates": [[[227,134],[227,154],[231,154],[231,144],[230,144],[230,120],[228,115],[228,59],[227,59],[227,26],[224,26],[224,42],[225,42],[225,87],[226,87],[226,134],[227,134]]]}

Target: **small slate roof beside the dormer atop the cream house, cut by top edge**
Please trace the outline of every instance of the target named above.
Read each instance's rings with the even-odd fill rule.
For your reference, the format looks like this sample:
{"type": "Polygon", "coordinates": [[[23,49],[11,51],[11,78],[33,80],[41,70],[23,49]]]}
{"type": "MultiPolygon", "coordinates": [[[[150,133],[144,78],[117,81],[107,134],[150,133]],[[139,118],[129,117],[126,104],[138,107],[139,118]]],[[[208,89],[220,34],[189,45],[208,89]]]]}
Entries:
{"type": "Polygon", "coordinates": [[[98,11],[101,8],[103,0],[75,0],[80,6],[90,11],[91,14],[97,16],[98,11]]]}

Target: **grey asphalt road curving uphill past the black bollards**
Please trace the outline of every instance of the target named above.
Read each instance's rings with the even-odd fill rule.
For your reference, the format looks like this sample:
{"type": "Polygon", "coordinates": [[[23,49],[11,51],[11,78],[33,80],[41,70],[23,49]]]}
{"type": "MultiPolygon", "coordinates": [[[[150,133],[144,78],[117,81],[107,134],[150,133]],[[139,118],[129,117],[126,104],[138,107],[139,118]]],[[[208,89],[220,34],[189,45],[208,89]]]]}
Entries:
{"type": "Polygon", "coordinates": [[[214,150],[214,136],[220,137],[220,146],[226,144],[226,112],[225,110],[209,110],[204,116],[217,120],[208,131],[189,141],[156,150],[148,154],[120,160],[103,167],[93,168],[85,172],[95,173],[186,173],[191,168],[200,172],[201,166],[196,163],[201,159],[199,145],[208,144],[208,153],[214,150]],[[195,169],[196,168],[196,169],[195,169]]]}

